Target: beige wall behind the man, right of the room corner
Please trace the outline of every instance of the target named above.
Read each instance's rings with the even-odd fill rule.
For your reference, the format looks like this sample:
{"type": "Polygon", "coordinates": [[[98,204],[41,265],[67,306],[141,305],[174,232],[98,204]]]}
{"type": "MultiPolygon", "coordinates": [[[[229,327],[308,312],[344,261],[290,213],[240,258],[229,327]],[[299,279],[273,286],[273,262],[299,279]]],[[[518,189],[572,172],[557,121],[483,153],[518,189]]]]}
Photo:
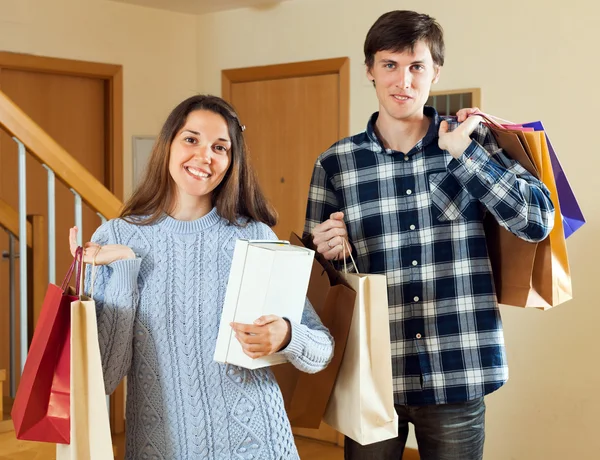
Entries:
{"type": "MultiPolygon", "coordinates": [[[[398,7],[435,16],[447,63],[437,89],[481,87],[483,108],[515,121],[542,119],[586,212],[569,240],[575,300],[553,311],[504,308],[511,379],[488,398],[486,460],[595,459],[600,413],[595,286],[600,257],[600,170],[595,114],[600,4],[571,0],[297,0],[270,10],[198,18],[198,89],[220,94],[233,67],[349,56],[351,129],[376,109],[364,78],[364,36],[398,7]],[[496,6],[494,6],[496,5],[496,6]]],[[[414,440],[411,441],[414,443],[414,440]]]]}

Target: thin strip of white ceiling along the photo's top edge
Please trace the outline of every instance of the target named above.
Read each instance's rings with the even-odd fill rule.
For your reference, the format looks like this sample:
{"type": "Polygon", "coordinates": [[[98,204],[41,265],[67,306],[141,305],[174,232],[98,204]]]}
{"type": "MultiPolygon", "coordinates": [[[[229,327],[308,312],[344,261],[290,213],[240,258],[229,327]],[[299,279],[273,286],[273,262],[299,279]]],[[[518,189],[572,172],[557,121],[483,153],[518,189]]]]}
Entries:
{"type": "Polygon", "coordinates": [[[238,8],[269,7],[289,0],[111,0],[188,14],[205,14],[238,8]]]}

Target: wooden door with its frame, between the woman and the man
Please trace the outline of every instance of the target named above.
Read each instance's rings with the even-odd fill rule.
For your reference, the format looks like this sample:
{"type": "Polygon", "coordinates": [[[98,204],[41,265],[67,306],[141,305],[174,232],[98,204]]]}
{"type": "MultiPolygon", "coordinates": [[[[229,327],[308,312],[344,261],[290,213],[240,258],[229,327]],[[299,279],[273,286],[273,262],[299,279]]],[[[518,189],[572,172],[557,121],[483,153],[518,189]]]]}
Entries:
{"type": "MultiPolygon", "coordinates": [[[[316,158],[348,135],[347,58],[223,72],[223,96],[246,125],[251,162],[267,198],[279,214],[281,239],[302,234],[316,158]]],[[[339,442],[338,433],[294,433],[339,442]]]]}

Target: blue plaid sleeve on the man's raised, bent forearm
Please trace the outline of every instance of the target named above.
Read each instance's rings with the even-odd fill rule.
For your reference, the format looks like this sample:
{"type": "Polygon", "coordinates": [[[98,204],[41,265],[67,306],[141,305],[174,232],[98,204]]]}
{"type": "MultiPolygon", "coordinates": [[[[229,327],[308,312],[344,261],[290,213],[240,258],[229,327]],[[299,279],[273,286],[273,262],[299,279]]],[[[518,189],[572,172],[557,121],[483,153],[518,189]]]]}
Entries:
{"type": "Polygon", "coordinates": [[[546,238],[554,226],[554,204],[547,187],[510,158],[481,125],[471,144],[448,170],[498,223],[526,241],[546,238]]]}

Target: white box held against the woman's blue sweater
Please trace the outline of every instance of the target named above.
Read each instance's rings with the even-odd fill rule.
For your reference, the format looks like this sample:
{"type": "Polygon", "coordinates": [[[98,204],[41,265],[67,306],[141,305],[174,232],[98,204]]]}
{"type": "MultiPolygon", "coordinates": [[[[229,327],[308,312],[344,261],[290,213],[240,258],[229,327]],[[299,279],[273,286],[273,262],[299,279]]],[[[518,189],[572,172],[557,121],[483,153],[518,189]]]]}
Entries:
{"type": "Polygon", "coordinates": [[[252,359],[229,323],[252,324],[263,315],[299,323],[314,251],[288,241],[237,240],[223,304],[215,361],[258,369],[286,362],[281,355],[252,359]]]}

